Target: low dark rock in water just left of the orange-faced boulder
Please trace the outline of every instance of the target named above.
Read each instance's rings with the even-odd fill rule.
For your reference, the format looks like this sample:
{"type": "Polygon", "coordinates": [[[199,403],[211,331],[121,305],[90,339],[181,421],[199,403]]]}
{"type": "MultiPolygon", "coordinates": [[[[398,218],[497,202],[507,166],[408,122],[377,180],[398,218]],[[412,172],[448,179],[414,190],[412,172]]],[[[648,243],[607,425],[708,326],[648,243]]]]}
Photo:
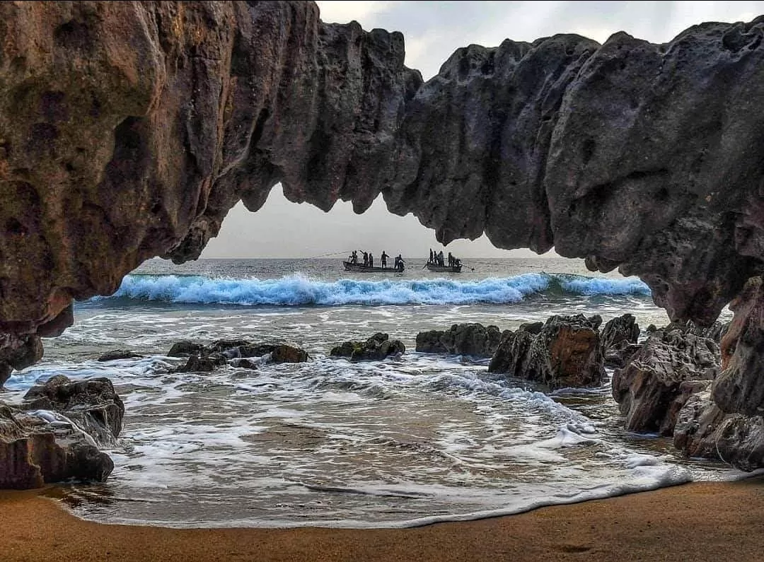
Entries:
{"type": "Polygon", "coordinates": [[[422,353],[445,353],[491,357],[501,339],[496,326],[455,324],[447,331],[431,330],[416,334],[416,350],[422,353]]]}

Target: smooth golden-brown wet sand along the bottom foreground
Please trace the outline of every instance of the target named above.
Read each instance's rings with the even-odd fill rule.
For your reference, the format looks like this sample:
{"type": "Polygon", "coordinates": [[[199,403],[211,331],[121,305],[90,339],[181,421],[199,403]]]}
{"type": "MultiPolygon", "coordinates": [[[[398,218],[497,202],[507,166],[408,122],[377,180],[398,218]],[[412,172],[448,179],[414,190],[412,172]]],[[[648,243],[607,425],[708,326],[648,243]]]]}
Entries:
{"type": "Polygon", "coordinates": [[[401,530],[102,525],[0,493],[0,560],[764,560],[764,478],[401,530]]]}

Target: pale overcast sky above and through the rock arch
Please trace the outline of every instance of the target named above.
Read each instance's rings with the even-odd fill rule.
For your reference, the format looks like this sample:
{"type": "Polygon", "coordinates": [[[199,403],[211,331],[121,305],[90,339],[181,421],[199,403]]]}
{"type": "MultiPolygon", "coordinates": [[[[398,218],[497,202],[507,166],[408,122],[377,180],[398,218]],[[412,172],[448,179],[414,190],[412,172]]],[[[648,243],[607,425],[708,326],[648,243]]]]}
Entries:
{"type": "MultiPolygon", "coordinates": [[[[383,27],[406,37],[406,66],[425,79],[438,73],[458,47],[495,47],[502,40],[533,41],[558,33],[577,33],[603,43],[626,31],[665,43],[703,21],[750,21],[764,14],[764,2],[317,2],[321,19],[356,20],[369,31],[383,27]]],[[[425,256],[435,235],[413,215],[387,213],[382,197],[364,213],[337,202],[329,213],[284,199],[281,187],[270,192],[260,211],[241,203],[231,209],[219,237],[202,257],[311,257],[346,254],[354,248],[379,255],[425,256]]],[[[448,251],[461,257],[526,257],[529,250],[498,250],[485,237],[455,241],[448,251]]],[[[554,255],[550,252],[549,255],[554,255]]]]}

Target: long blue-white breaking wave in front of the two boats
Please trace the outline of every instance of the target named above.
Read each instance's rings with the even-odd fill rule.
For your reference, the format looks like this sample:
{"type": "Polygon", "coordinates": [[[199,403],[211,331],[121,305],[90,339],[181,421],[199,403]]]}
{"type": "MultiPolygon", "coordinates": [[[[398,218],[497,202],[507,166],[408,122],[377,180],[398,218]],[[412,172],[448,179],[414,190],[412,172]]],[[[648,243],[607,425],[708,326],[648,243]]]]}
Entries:
{"type": "Polygon", "coordinates": [[[303,275],[279,279],[128,275],[106,299],[215,305],[463,305],[520,302],[534,295],[649,296],[636,277],[610,279],[565,273],[525,273],[504,278],[320,281],[303,275]]]}

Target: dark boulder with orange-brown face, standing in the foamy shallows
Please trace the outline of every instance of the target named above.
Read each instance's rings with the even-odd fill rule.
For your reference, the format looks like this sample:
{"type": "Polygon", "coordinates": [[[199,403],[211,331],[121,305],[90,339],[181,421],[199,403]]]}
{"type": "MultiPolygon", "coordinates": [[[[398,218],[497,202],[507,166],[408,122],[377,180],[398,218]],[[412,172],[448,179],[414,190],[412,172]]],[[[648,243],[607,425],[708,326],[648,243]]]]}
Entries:
{"type": "Polygon", "coordinates": [[[597,331],[601,322],[598,315],[555,315],[547,319],[538,334],[506,331],[488,371],[533,380],[551,389],[600,386],[604,380],[597,331]]]}

